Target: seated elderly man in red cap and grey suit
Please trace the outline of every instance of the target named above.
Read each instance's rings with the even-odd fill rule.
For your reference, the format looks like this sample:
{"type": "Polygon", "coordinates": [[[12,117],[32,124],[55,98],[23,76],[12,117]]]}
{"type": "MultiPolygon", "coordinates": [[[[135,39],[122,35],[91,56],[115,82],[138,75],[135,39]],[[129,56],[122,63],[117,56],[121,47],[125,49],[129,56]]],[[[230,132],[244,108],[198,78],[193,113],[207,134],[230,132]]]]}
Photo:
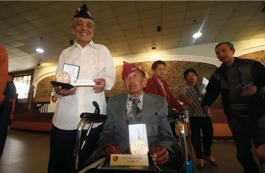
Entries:
{"type": "Polygon", "coordinates": [[[176,154],[172,146],[177,144],[167,121],[166,98],[143,92],[147,84],[145,72],[132,63],[124,62],[122,79],[127,93],[110,97],[105,130],[100,134],[97,153],[107,158],[111,154],[129,154],[128,125],[140,123],[146,124],[153,162],[166,164],[176,154]]]}

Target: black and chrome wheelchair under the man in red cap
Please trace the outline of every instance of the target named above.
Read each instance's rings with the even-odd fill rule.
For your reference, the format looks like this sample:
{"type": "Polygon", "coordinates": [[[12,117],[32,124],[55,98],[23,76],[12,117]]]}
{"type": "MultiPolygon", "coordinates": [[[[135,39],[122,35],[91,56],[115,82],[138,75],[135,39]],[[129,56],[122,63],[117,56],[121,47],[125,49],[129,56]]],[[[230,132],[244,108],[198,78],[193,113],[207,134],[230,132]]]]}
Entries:
{"type": "MultiPolygon", "coordinates": [[[[80,115],[81,121],[78,124],[78,128],[77,128],[77,139],[76,139],[76,146],[75,146],[75,150],[74,150],[74,157],[75,157],[75,168],[76,170],[79,169],[79,153],[80,150],[83,149],[84,144],[86,142],[86,140],[84,139],[84,141],[81,144],[81,136],[82,136],[82,128],[85,124],[89,124],[86,136],[89,135],[89,132],[93,126],[94,123],[105,123],[105,121],[107,120],[107,116],[106,115],[102,115],[99,114],[100,110],[99,107],[97,106],[97,104],[93,105],[96,107],[95,113],[82,113],[80,115]]],[[[170,114],[167,116],[168,119],[168,123],[176,123],[179,129],[179,145],[180,145],[180,153],[181,153],[181,163],[182,163],[182,168],[181,168],[181,172],[177,172],[174,171],[174,169],[172,168],[166,168],[166,165],[157,167],[155,165],[149,164],[149,170],[148,171],[152,171],[153,173],[195,173],[195,168],[193,165],[193,162],[188,154],[187,151],[187,146],[186,146],[186,139],[185,139],[185,131],[184,131],[184,125],[183,122],[188,122],[188,116],[184,115],[183,113],[174,113],[174,114],[170,114]]],[[[150,160],[150,159],[149,159],[150,160]]],[[[150,161],[149,161],[150,162],[150,161]]],[[[97,165],[99,166],[99,165],[97,165]]],[[[97,168],[92,168],[93,169],[93,173],[94,172],[132,172],[132,171],[147,171],[147,170],[123,170],[123,169],[97,169],[97,168]]],[[[89,170],[89,171],[92,171],[89,170]]],[[[89,172],[88,171],[88,172],[89,172]]],[[[86,172],[79,172],[79,173],[86,173],[86,172]]]]}

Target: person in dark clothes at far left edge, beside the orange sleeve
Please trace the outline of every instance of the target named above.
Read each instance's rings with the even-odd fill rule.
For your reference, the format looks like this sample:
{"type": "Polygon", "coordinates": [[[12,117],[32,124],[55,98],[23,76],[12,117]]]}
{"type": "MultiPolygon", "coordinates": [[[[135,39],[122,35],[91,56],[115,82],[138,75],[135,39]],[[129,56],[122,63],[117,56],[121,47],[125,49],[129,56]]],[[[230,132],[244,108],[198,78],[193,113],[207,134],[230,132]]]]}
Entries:
{"type": "Polygon", "coordinates": [[[5,97],[0,104],[0,154],[2,154],[4,150],[8,124],[10,121],[10,113],[17,94],[16,86],[13,81],[14,75],[12,73],[8,73],[7,84],[3,92],[5,97]]]}

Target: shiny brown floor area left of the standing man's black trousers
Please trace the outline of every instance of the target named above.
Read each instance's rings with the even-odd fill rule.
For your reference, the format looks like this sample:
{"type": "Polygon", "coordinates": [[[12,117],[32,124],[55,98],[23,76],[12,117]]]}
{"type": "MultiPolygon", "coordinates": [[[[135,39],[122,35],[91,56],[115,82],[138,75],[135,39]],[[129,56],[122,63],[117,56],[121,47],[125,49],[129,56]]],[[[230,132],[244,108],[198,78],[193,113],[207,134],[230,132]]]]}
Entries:
{"type": "Polygon", "coordinates": [[[9,131],[0,173],[47,173],[50,135],[9,131]]]}

